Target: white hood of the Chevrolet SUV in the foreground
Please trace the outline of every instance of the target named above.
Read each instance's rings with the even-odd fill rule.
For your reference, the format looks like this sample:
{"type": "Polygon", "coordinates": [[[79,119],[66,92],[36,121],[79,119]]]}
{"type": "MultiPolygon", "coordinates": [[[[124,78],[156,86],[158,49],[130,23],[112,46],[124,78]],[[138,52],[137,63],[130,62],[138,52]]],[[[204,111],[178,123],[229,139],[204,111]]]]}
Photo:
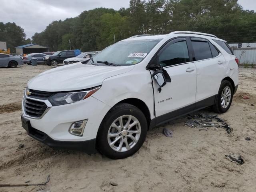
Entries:
{"type": "Polygon", "coordinates": [[[47,70],[28,82],[28,88],[58,92],[92,88],[112,76],[129,72],[134,66],[94,66],[75,63],[47,70]]]}

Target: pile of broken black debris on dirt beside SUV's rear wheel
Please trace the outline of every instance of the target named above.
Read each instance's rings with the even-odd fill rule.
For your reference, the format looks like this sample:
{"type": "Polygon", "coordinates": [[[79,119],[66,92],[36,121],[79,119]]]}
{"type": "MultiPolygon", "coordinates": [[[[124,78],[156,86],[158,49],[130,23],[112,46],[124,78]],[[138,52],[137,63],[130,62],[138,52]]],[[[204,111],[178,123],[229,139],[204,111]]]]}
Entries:
{"type": "Polygon", "coordinates": [[[186,126],[196,127],[199,130],[208,130],[208,127],[226,128],[228,134],[231,134],[233,129],[218,115],[209,115],[206,113],[200,113],[198,115],[188,116],[188,121],[185,123],[186,126]]]}

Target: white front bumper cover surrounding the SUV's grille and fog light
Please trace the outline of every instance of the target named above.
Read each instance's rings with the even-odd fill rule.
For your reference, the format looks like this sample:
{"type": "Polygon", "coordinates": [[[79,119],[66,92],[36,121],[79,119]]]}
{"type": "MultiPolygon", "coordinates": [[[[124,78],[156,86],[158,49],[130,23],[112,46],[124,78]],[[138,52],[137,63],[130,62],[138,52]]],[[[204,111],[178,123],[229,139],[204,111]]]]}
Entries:
{"type": "MultiPolygon", "coordinates": [[[[26,120],[29,120],[31,127],[34,128],[34,130],[42,132],[42,134],[45,134],[46,136],[44,139],[40,140],[31,134],[29,135],[49,146],[55,146],[54,148],[81,151],[82,149],[80,148],[84,142],[92,142],[96,139],[100,123],[108,110],[110,110],[110,106],[93,96],[80,102],[60,106],[52,106],[48,100],[39,100],[29,97],[26,94],[24,94],[24,97],[30,100],[44,102],[48,107],[47,112],[42,114],[42,116],[34,118],[26,114],[23,104],[24,98],[22,100],[22,115],[26,120]],[[70,126],[74,122],[84,119],[88,119],[88,121],[82,136],[75,136],[68,132],[70,126]],[[74,142],[78,143],[74,144],[74,142]]],[[[86,145],[84,147],[85,149],[87,148],[86,145]]]]}

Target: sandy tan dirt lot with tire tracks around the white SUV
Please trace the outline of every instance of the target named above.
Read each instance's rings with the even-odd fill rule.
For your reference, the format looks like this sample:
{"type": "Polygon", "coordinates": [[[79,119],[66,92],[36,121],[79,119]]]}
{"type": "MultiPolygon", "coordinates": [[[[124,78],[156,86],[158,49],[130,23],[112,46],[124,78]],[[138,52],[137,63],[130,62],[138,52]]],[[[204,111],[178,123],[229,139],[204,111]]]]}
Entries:
{"type": "MultiPolygon", "coordinates": [[[[2,187],[1,192],[256,191],[256,69],[240,69],[232,106],[219,115],[234,129],[232,134],[214,127],[199,131],[184,126],[188,117],[179,118],[150,130],[133,156],[110,160],[101,154],[52,150],[21,127],[26,82],[49,68],[0,68],[0,184],[41,183],[50,175],[46,186],[2,187]],[[173,131],[172,138],[162,134],[164,127],[173,131]],[[244,164],[225,158],[231,153],[242,154],[244,164]]],[[[200,112],[213,114],[209,109],[200,112]]]]}

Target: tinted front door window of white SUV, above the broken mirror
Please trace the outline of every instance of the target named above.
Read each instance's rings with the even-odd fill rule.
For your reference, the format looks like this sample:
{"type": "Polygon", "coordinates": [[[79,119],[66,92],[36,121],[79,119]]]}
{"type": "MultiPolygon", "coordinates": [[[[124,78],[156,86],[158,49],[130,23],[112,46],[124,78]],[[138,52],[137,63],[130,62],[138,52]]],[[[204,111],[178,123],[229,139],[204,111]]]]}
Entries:
{"type": "Polygon", "coordinates": [[[159,56],[159,64],[162,67],[189,62],[188,47],[186,41],[170,44],[159,56]]]}

